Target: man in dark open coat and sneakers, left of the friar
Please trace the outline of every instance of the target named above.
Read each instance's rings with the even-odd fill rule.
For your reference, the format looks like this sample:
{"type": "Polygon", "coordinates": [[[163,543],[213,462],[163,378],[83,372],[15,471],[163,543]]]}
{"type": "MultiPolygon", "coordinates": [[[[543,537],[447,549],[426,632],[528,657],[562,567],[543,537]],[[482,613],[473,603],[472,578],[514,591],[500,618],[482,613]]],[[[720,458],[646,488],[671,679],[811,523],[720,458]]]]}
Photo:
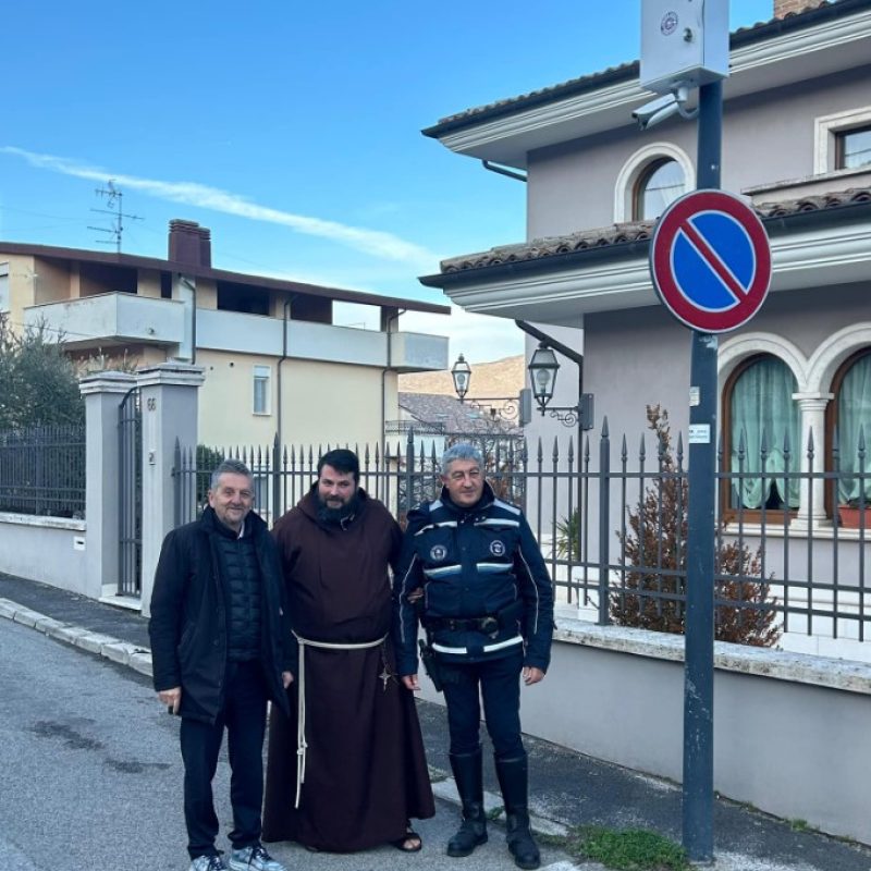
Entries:
{"type": "Polygon", "coordinates": [[[228,733],[232,871],[284,871],[260,844],[267,701],[287,711],[295,648],[278,551],[238,461],[212,475],[203,518],[163,541],[151,597],[155,689],[182,717],[188,871],[225,871],[211,781],[228,733]]]}

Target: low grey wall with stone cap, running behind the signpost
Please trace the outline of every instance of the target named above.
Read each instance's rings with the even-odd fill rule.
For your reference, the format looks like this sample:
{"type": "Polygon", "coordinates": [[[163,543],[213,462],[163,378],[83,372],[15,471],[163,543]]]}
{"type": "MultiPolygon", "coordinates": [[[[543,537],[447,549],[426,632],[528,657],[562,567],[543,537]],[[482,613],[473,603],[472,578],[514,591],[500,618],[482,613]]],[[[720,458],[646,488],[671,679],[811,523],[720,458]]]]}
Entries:
{"type": "MultiPolygon", "coordinates": [[[[680,781],[684,639],[557,617],[523,724],[598,759],[680,781]]],[[[714,788],[785,819],[871,843],[871,665],[715,646],[714,788]]],[[[429,680],[424,696],[443,702],[429,680]]],[[[531,784],[535,790],[535,784],[531,784]]]]}

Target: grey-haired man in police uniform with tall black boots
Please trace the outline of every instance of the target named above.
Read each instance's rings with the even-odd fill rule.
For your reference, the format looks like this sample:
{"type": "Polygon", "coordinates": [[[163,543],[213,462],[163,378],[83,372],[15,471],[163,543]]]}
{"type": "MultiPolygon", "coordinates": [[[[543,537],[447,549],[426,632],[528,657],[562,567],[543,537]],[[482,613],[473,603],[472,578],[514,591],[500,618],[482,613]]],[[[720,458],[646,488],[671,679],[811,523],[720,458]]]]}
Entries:
{"type": "Polygon", "coordinates": [[[456,444],[441,462],[441,496],[408,514],[394,590],[396,666],[417,676],[418,615],[436,679],[444,689],[451,768],[463,822],[449,856],[468,856],[487,841],[480,701],[493,743],[507,818],[507,845],[518,868],[540,864],[529,829],[527,759],[520,737],[520,682],[544,677],[553,635],[553,590],[523,512],[484,481],[483,458],[456,444]]]}

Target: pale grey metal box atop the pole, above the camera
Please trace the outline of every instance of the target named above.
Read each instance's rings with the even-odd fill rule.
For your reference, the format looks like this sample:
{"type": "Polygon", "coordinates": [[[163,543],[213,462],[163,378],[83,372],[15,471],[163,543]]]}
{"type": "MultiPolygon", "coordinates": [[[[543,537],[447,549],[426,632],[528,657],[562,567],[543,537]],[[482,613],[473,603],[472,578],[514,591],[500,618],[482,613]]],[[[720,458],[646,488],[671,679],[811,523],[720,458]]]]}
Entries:
{"type": "Polygon", "coordinates": [[[728,75],[728,0],[641,0],[642,88],[668,94],[728,75]]]}

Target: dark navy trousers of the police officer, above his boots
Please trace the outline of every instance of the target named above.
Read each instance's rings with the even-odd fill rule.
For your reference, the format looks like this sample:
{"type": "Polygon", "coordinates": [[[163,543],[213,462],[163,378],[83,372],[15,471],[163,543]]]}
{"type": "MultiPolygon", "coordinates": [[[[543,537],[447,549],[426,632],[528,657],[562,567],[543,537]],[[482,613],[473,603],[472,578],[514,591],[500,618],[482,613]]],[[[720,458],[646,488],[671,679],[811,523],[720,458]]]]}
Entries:
{"type": "Polygon", "coordinates": [[[496,759],[524,755],[520,738],[523,647],[498,660],[442,665],[451,752],[474,753],[480,744],[481,706],[496,759]]]}

